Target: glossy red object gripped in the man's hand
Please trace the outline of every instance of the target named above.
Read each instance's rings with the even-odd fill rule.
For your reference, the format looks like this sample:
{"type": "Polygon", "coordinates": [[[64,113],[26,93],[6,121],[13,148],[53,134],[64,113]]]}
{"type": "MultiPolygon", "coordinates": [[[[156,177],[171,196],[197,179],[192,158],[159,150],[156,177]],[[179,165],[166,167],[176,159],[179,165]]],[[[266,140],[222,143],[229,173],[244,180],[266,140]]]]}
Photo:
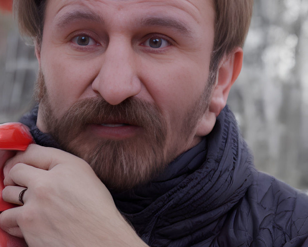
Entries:
{"type": "MultiPolygon", "coordinates": [[[[1,1],[1,0],[0,0],[1,1]]],[[[29,128],[21,123],[6,123],[0,124],[0,150],[17,150],[25,151],[29,144],[34,143],[34,140],[30,134],[29,128]]],[[[4,189],[4,175],[3,166],[4,162],[14,156],[14,152],[2,151],[0,157],[0,212],[16,207],[17,205],[7,203],[2,199],[2,190],[4,189]]],[[[4,232],[0,228],[0,247],[14,247],[14,246],[26,246],[23,239],[13,237],[10,234],[4,232]]]]}

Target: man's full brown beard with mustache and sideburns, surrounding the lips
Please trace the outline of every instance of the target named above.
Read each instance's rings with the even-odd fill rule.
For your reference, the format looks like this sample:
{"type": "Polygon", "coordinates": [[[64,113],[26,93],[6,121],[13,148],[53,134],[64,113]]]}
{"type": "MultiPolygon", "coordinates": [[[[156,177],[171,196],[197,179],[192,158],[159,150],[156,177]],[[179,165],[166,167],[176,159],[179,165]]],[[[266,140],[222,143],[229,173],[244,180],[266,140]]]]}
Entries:
{"type": "Polygon", "coordinates": [[[167,123],[155,104],[127,98],[118,105],[102,97],[75,102],[59,119],[55,117],[39,69],[35,98],[47,132],[62,150],[85,160],[109,190],[121,192],[151,181],[183,150],[201,115],[208,110],[211,85],[181,121],[180,132],[167,140],[167,123]],[[129,123],[142,128],[140,135],[124,140],[86,135],[90,124],[129,123]]]}

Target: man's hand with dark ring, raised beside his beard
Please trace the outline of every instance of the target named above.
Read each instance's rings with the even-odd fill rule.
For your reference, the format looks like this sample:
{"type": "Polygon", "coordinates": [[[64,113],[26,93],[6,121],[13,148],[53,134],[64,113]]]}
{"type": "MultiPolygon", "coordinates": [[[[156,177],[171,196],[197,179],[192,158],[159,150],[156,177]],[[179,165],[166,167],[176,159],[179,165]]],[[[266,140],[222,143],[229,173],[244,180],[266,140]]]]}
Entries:
{"type": "Polygon", "coordinates": [[[0,214],[6,232],[30,247],[146,246],[116,209],[113,199],[82,159],[31,144],[4,168],[3,199],[24,205],[0,214]]]}

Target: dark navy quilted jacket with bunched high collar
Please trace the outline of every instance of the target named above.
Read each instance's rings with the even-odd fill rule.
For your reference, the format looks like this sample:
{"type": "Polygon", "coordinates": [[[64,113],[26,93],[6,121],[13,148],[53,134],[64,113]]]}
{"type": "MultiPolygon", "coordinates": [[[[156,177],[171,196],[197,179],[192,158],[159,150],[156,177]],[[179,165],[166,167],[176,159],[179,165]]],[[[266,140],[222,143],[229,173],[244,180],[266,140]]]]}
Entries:
{"type": "MultiPolygon", "coordinates": [[[[38,144],[56,147],[22,122],[38,144]]],[[[201,143],[115,204],[150,246],[308,246],[308,196],[257,171],[228,107],[201,143]]]]}

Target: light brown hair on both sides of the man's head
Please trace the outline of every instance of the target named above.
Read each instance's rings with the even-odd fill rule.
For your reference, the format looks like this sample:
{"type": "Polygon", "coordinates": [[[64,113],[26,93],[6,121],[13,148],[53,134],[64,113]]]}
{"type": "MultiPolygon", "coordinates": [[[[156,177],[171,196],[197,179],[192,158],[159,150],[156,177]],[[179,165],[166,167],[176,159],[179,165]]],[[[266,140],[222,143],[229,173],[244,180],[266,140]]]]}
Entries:
{"type": "MultiPolygon", "coordinates": [[[[13,0],[13,2],[21,34],[33,38],[40,47],[47,0],[13,0]]],[[[253,0],[213,0],[213,3],[216,9],[216,26],[210,71],[214,72],[212,73],[214,75],[225,54],[229,54],[236,47],[243,47],[250,25],[253,0]]]]}

